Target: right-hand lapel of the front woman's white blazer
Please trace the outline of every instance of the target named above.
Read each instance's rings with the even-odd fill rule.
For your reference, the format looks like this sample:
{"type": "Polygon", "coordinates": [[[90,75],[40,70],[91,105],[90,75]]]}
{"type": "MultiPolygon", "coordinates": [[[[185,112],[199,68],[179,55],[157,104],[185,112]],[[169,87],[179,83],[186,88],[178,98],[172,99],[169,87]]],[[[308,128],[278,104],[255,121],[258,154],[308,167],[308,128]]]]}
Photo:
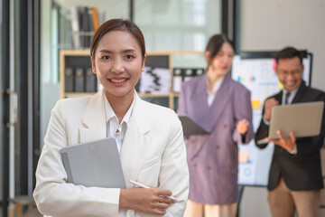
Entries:
{"type": "Polygon", "coordinates": [[[152,140],[149,134],[150,122],[144,114],[143,103],[136,95],[120,155],[127,188],[132,187],[130,180],[136,180],[152,140]]]}

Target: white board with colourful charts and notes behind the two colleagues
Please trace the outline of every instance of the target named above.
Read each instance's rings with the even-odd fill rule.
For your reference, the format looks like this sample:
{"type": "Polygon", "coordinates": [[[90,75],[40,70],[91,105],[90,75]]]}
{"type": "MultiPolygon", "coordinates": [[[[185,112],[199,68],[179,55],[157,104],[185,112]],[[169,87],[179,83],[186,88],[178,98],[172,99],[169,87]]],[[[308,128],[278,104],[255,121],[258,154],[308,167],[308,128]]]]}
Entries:
{"type": "MultiPolygon", "coordinates": [[[[251,91],[255,132],[262,118],[265,99],[283,89],[274,71],[274,55],[275,52],[242,52],[233,60],[231,77],[251,91]]],[[[302,55],[303,80],[309,85],[312,55],[305,51],[302,55]]],[[[274,144],[259,149],[254,139],[248,145],[238,146],[238,184],[267,185],[273,152],[274,144]]]]}

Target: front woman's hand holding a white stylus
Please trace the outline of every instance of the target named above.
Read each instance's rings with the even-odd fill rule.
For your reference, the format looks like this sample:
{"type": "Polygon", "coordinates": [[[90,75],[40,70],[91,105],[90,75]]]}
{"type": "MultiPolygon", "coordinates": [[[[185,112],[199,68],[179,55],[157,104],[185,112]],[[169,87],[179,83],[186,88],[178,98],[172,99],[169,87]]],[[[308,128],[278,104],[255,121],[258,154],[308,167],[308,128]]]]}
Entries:
{"type": "Polygon", "coordinates": [[[172,192],[155,187],[121,189],[119,207],[136,212],[163,215],[171,203],[175,203],[165,196],[172,196],[172,192]]]}

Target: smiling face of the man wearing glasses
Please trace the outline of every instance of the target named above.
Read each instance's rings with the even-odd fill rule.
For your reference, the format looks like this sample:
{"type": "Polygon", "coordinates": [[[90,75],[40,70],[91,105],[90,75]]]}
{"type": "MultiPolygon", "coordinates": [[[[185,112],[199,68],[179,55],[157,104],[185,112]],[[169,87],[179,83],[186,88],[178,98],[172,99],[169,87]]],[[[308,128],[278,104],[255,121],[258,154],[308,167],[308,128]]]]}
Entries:
{"type": "Polygon", "coordinates": [[[279,60],[275,72],[285,90],[296,90],[302,83],[303,65],[298,57],[279,60]]]}

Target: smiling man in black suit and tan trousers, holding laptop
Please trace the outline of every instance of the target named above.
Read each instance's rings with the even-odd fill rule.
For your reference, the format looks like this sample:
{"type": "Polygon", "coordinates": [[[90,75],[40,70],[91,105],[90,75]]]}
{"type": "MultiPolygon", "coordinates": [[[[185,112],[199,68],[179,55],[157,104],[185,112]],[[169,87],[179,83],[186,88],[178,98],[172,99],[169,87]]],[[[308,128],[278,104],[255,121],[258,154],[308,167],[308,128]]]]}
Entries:
{"type": "MultiPolygon", "coordinates": [[[[292,47],[284,48],[276,57],[275,72],[283,90],[265,100],[263,118],[255,134],[255,141],[267,137],[271,109],[275,105],[299,102],[325,101],[325,93],[307,87],[302,80],[302,54],[292,47]]],[[[307,115],[307,114],[306,114],[307,115]]],[[[268,181],[268,202],[274,217],[318,216],[320,189],[323,188],[320,169],[320,147],[324,141],[325,118],[323,114],[320,135],[317,137],[279,139],[266,138],[265,148],[274,143],[274,156],[268,181]]]]}

